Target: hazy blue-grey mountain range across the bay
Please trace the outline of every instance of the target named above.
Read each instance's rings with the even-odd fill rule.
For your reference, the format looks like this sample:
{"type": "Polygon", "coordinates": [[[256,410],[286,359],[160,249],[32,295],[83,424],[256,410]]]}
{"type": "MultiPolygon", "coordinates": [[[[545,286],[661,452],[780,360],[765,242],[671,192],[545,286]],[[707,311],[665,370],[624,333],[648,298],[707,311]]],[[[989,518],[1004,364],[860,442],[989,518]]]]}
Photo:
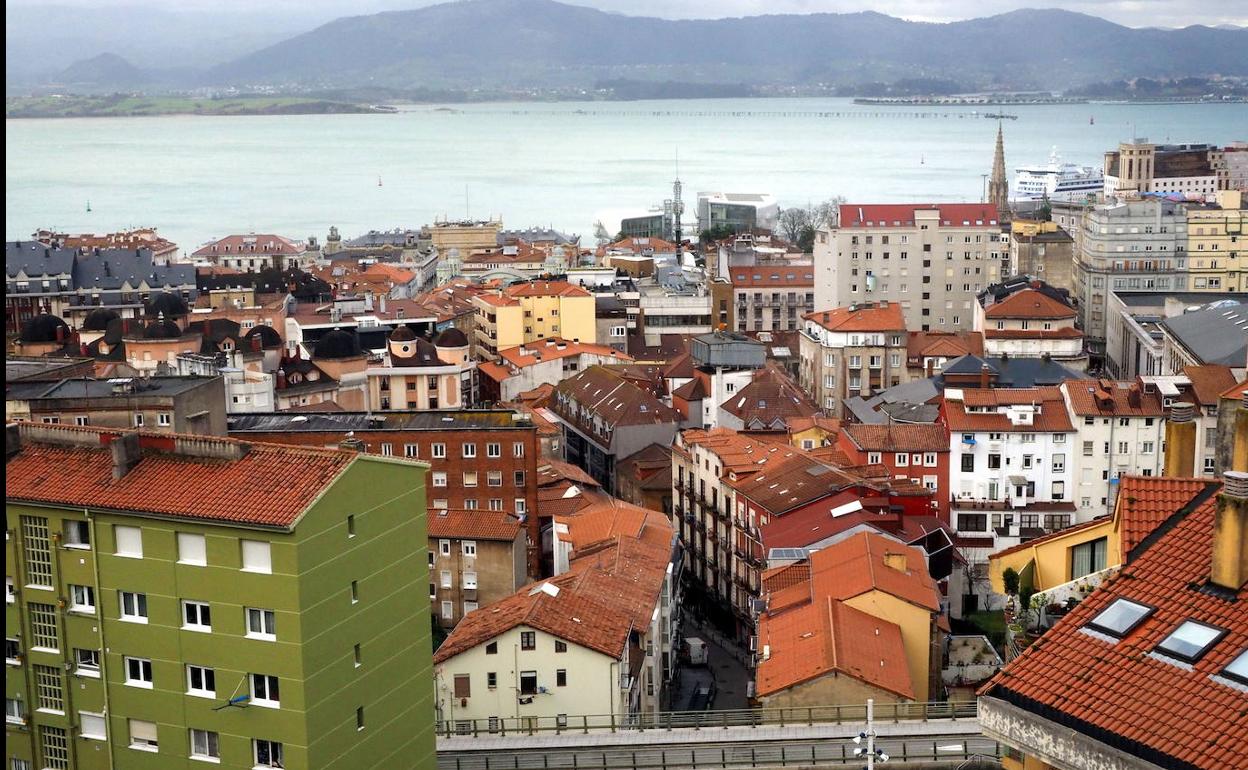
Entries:
{"type": "Polygon", "coordinates": [[[782,90],[917,80],[963,90],[1065,90],[1141,76],[1248,76],[1244,51],[1242,27],[1131,29],[1060,10],[952,24],[876,12],[671,21],[553,0],[466,0],[337,19],[190,72],[140,70],[114,56],[44,80],[72,76],[96,89],[146,80],[288,90],[567,90],[604,82],[782,90]],[[92,69],[99,76],[89,76],[92,69]]]}

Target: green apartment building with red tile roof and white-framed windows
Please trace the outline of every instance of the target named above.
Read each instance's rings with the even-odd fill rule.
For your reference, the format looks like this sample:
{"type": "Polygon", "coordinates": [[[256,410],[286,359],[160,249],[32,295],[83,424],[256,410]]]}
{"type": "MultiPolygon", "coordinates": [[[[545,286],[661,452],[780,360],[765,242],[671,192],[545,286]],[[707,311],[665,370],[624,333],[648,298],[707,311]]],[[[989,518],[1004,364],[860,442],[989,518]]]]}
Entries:
{"type": "Polygon", "coordinates": [[[22,423],[5,770],[437,764],[427,465],[22,423]]]}

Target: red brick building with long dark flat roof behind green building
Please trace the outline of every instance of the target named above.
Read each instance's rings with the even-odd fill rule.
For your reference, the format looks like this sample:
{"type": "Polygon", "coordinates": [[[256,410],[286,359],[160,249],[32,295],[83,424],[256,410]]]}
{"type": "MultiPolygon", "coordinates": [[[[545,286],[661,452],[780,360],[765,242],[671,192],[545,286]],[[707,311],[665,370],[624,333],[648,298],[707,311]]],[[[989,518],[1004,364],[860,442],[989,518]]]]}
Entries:
{"type": "Polygon", "coordinates": [[[512,409],[273,412],[235,414],[228,423],[233,438],[349,447],[427,462],[429,509],[502,510],[520,517],[528,533],[529,577],[540,577],[538,432],[512,409]]]}

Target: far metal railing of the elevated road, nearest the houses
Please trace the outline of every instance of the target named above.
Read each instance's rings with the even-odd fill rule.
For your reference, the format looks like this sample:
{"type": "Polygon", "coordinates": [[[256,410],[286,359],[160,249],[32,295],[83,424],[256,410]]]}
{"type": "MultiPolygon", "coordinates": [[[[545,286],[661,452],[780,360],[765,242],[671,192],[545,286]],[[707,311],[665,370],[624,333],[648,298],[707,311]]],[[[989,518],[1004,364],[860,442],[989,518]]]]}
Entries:
{"type": "MultiPolygon", "coordinates": [[[[975,719],[977,704],[877,703],[876,723],[929,721],[935,719],[975,719]]],[[[794,725],[859,724],[866,721],[866,704],[794,706],[773,709],[735,709],[725,711],[655,711],[651,714],[582,714],[547,716],[504,716],[495,719],[439,719],[438,735],[452,738],[480,735],[537,735],[540,733],[622,733],[645,730],[714,730],[794,725]]]]}

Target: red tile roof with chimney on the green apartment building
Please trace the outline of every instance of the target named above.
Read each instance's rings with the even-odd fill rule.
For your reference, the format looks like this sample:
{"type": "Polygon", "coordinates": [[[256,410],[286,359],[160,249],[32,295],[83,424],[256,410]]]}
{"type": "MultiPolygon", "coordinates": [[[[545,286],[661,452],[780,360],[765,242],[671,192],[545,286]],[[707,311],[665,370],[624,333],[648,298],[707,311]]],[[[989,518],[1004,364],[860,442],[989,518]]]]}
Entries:
{"type": "Polygon", "coordinates": [[[208,436],[22,426],[21,451],[5,463],[5,498],[288,528],[359,457],[208,436]],[[109,444],[127,433],[139,436],[142,459],[114,479],[109,444]],[[242,449],[238,459],[191,456],[242,449]]]}

